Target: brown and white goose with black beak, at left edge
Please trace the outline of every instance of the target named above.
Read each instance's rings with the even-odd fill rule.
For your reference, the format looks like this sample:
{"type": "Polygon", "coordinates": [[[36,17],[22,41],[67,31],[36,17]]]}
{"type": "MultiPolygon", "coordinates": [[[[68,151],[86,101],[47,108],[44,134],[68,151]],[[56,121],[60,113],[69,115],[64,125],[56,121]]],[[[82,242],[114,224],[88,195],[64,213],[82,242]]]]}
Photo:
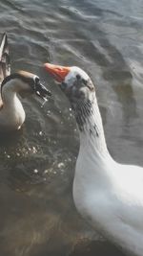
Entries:
{"type": "Polygon", "coordinates": [[[0,132],[21,128],[25,121],[25,111],[17,95],[36,95],[44,98],[50,91],[40,83],[39,78],[26,71],[10,74],[10,57],[7,35],[0,44],[0,132]]]}

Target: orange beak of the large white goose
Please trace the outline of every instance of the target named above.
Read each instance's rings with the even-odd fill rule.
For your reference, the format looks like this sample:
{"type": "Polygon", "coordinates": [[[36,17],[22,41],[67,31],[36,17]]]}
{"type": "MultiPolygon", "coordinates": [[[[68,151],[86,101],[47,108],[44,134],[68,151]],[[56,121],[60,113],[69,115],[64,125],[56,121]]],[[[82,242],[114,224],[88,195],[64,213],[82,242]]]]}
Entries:
{"type": "Polygon", "coordinates": [[[65,80],[66,76],[69,74],[71,68],[70,67],[63,67],[59,65],[53,65],[50,63],[44,64],[45,69],[51,74],[51,76],[59,82],[65,80]]]}

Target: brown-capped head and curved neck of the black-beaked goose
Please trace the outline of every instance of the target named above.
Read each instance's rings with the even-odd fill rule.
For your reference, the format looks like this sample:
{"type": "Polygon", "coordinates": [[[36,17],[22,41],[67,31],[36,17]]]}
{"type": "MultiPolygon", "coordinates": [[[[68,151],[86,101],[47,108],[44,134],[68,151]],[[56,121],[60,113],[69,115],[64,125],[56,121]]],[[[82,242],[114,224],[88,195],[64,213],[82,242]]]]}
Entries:
{"type": "Polygon", "coordinates": [[[18,93],[22,97],[33,93],[41,98],[51,96],[51,92],[41,83],[39,77],[27,71],[18,71],[6,77],[1,84],[2,98],[4,91],[18,93]]]}

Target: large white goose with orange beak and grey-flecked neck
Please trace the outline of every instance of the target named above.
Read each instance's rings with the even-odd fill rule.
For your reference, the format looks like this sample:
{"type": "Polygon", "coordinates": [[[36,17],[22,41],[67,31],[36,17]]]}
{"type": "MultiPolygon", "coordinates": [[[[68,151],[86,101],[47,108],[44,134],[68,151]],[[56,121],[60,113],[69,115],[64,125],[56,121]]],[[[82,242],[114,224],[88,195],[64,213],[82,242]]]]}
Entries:
{"type": "Polygon", "coordinates": [[[45,63],[69,98],[80,134],[73,180],[79,213],[128,255],[143,256],[143,168],[110,155],[90,77],[78,67],[45,63]]]}

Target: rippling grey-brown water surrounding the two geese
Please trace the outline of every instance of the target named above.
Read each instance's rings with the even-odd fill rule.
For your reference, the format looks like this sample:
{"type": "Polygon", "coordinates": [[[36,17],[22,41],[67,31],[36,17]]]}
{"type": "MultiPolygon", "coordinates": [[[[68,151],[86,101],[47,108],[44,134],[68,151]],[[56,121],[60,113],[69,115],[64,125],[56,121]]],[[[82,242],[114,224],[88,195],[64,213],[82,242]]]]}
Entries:
{"type": "Polygon", "coordinates": [[[1,0],[0,6],[12,71],[39,75],[53,95],[43,107],[24,100],[24,127],[0,139],[0,255],[123,256],[74,208],[78,132],[42,64],[77,65],[91,75],[112,156],[143,166],[143,2],[1,0]]]}

